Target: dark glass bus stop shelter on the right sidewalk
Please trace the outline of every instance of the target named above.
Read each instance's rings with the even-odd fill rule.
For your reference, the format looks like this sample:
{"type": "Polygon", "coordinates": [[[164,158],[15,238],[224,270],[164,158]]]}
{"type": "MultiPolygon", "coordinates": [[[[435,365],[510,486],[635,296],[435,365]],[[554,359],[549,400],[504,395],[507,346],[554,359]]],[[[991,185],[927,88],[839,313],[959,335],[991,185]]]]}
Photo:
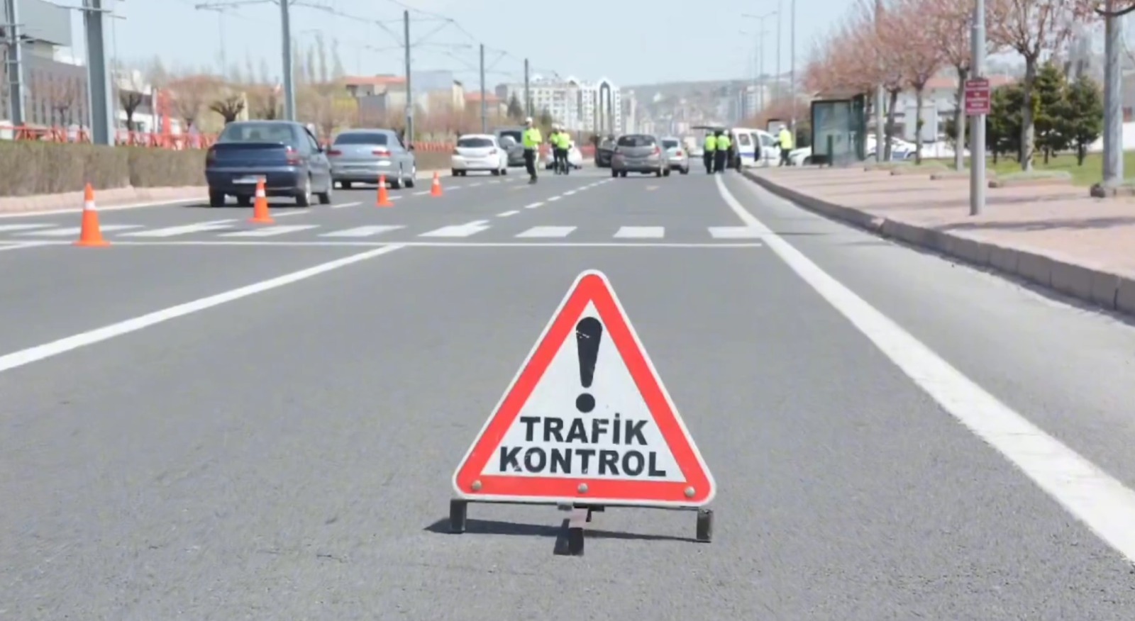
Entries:
{"type": "Polygon", "coordinates": [[[812,102],[812,161],[850,165],[866,159],[867,97],[863,93],[821,93],[812,102]]]}

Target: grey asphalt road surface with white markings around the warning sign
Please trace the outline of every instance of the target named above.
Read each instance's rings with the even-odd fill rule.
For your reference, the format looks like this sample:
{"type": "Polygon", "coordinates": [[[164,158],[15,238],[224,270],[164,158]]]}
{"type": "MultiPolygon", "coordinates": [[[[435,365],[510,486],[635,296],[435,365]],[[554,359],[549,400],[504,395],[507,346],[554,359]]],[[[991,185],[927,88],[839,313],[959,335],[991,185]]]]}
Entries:
{"type": "Polygon", "coordinates": [[[1135,618],[1128,324],[734,173],[443,180],[275,229],[104,211],[104,249],[0,219],[0,619],[1135,618]],[[581,558],[548,507],[446,533],[587,269],[713,469],[713,543],[649,509],[581,558]]]}

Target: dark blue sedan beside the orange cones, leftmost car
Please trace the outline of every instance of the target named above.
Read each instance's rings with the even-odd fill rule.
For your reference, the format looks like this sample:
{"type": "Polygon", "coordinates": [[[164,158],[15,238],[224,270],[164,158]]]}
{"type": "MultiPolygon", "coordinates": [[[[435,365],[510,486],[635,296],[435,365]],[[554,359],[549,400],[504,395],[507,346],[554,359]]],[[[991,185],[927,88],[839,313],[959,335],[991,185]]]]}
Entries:
{"type": "Polygon", "coordinates": [[[331,165],[316,136],[294,121],[234,121],[225,126],[205,153],[209,205],[220,207],[228,196],[247,206],[263,179],[268,196],[292,196],[310,206],[312,195],[330,204],[331,165]]]}

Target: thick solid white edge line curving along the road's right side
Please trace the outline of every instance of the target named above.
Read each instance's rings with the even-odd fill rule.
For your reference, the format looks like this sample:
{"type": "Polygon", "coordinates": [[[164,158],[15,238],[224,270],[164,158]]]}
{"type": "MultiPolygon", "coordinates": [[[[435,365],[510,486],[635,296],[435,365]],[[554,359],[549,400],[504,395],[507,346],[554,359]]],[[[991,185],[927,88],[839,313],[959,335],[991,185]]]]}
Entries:
{"type": "Polygon", "coordinates": [[[871,339],[916,385],[970,432],[997,449],[1069,513],[1135,562],[1135,491],[1002,403],[824,272],[800,250],[745,210],[714,177],[717,192],[747,227],[793,272],[871,339]]]}

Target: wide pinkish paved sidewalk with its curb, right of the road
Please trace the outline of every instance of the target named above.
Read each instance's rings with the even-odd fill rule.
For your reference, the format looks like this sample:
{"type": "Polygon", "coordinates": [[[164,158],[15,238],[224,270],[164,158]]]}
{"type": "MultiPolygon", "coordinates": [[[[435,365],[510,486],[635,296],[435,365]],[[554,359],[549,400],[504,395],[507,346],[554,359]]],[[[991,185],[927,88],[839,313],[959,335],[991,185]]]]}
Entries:
{"type": "Polygon", "coordinates": [[[1135,315],[1135,199],[1091,198],[1070,185],[985,190],[969,215],[969,179],[888,170],[756,169],[765,189],[827,218],[1135,315]]]}

